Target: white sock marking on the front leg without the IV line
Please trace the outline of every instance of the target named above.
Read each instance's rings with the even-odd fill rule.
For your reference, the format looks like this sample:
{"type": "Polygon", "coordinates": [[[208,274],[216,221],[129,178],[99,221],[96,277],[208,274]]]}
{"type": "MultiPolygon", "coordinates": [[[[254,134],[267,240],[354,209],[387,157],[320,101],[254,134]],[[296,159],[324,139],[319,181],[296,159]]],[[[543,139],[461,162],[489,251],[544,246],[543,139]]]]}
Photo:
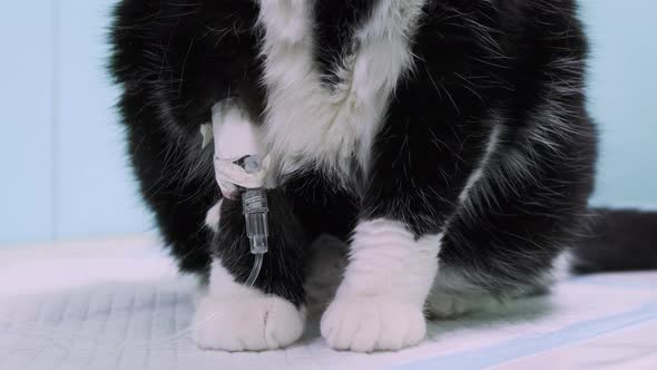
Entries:
{"type": "Polygon", "coordinates": [[[423,306],[438,271],[442,235],[415,241],[404,224],[361,223],[335,300],[322,318],[322,335],[335,349],[399,350],[425,334],[423,306]]]}

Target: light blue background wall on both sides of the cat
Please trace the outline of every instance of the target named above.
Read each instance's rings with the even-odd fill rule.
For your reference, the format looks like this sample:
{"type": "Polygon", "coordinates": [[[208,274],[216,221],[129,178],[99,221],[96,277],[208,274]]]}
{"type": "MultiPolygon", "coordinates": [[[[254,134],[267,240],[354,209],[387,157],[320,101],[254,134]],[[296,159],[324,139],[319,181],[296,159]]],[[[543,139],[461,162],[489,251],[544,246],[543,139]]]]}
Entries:
{"type": "MultiPolygon", "coordinates": [[[[151,230],[104,69],[109,1],[13,1],[0,13],[0,245],[151,230]]],[[[581,0],[601,128],[594,204],[657,205],[657,1],[581,0]]]]}

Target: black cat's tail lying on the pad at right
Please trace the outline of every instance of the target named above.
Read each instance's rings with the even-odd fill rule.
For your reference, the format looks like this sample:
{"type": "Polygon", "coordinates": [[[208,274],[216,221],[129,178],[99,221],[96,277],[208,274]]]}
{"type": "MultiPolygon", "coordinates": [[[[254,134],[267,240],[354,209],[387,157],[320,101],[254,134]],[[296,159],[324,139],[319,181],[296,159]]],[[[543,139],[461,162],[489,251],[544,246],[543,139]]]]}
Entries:
{"type": "Polygon", "coordinates": [[[595,208],[589,236],[572,251],[572,272],[657,270],[657,213],[595,208]]]}

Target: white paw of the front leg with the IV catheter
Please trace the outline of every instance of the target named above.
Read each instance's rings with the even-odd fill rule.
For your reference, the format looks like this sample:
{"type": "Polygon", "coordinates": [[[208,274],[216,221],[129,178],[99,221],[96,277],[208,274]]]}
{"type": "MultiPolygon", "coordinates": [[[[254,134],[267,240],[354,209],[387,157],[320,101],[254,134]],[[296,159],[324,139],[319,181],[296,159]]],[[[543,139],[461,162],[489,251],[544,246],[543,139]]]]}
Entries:
{"type": "Polygon", "coordinates": [[[277,296],[205,296],[192,337],[206,350],[263,351],[294,343],[304,324],[303,310],[277,296]]]}

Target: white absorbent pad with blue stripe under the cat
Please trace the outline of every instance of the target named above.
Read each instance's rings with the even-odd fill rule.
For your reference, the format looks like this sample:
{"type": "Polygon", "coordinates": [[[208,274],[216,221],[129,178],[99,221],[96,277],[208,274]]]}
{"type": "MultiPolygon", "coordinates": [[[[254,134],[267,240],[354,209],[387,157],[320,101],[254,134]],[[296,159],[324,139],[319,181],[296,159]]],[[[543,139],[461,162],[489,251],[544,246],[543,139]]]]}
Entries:
{"type": "Polygon", "coordinates": [[[432,322],[396,353],[198,350],[194,281],[144,242],[0,251],[0,369],[657,369],[657,273],[577,278],[500,314],[432,322]]]}

